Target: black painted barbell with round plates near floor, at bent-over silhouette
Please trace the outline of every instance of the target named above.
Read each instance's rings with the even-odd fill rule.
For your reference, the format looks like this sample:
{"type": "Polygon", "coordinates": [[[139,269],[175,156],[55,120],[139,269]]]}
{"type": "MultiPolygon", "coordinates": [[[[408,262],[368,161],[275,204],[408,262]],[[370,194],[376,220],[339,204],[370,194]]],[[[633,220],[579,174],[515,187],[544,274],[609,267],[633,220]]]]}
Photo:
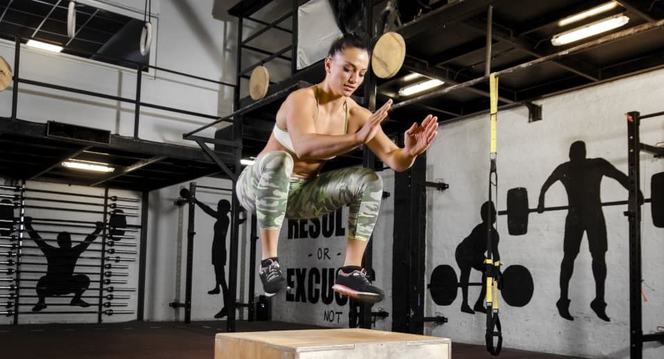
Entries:
{"type": "MultiPolygon", "coordinates": [[[[454,268],[450,265],[438,265],[431,273],[431,297],[439,306],[449,306],[454,302],[457,289],[463,286],[484,286],[484,283],[459,283],[454,268]]],[[[510,306],[525,306],[533,298],[535,284],[530,271],[523,265],[510,265],[503,272],[500,292],[510,306]]]]}

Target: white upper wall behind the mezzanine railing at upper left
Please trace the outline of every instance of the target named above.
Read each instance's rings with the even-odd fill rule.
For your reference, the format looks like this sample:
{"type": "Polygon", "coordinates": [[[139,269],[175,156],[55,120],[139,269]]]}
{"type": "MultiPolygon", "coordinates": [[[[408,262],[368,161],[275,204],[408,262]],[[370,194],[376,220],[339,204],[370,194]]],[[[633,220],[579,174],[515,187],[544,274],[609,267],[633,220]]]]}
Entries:
{"type": "MultiPolygon", "coordinates": [[[[123,11],[129,11],[141,19],[143,17],[142,1],[100,2],[121,6],[123,11]]],[[[279,4],[275,5],[263,10],[267,12],[266,16],[271,16],[272,12],[275,19],[281,16],[279,4]]],[[[235,83],[238,21],[236,18],[233,21],[219,21],[210,16],[212,11],[212,1],[152,1],[153,21],[156,22],[156,43],[152,50],[156,52],[156,63],[153,64],[194,76],[235,83]],[[192,54],[196,54],[195,57],[192,57],[192,54]]],[[[244,26],[247,36],[251,35],[251,30],[261,27],[260,24],[250,21],[244,26]]],[[[271,32],[274,32],[274,36],[269,39],[269,44],[281,46],[281,42],[285,41],[281,39],[281,32],[271,32]]],[[[269,49],[269,46],[260,44],[267,41],[265,36],[258,37],[256,46],[269,49]]],[[[14,58],[13,45],[13,42],[0,42],[0,55],[10,64],[13,64],[14,58]]],[[[262,57],[262,54],[245,51],[247,64],[262,57]]],[[[284,68],[290,71],[288,62],[281,62],[285,65],[284,68]]],[[[275,80],[287,76],[279,67],[281,62],[277,61],[276,65],[269,68],[275,80]]],[[[101,62],[74,60],[26,46],[22,46],[20,76],[112,96],[135,98],[135,71],[121,70],[101,62]]],[[[11,90],[12,87],[0,93],[0,116],[11,114],[11,90]]],[[[150,73],[144,74],[141,100],[202,114],[222,116],[233,112],[233,88],[164,71],[151,70],[150,73]]],[[[117,103],[113,100],[22,84],[19,87],[17,114],[19,119],[26,121],[74,123],[133,136],[134,105],[131,103],[117,103]]],[[[191,141],[184,141],[182,134],[209,121],[142,107],[139,137],[197,147],[191,141]]],[[[214,137],[214,133],[215,128],[200,132],[201,136],[206,137],[214,137]]]]}

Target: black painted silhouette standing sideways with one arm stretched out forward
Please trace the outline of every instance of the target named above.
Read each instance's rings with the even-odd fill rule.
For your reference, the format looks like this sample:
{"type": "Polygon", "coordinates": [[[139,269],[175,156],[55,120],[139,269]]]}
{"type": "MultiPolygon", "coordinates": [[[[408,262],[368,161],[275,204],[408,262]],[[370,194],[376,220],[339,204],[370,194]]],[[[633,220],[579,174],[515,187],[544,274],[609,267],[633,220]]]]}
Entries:
{"type": "MultiPolygon", "coordinates": [[[[229,232],[229,225],[231,225],[231,219],[229,218],[229,213],[231,213],[231,202],[228,200],[219,200],[217,203],[217,211],[210,208],[207,204],[200,202],[197,198],[192,198],[189,191],[181,191],[183,198],[188,198],[192,200],[195,204],[198,204],[199,207],[209,216],[216,218],[214,227],[214,238],[212,241],[212,265],[215,267],[215,288],[208,291],[208,294],[215,295],[219,294],[219,287],[222,289],[222,295],[224,297],[224,307],[222,310],[219,310],[219,313],[215,314],[215,318],[223,318],[229,314],[226,309],[226,299],[229,295],[229,286],[226,284],[226,234],[229,232]]],[[[240,219],[240,224],[244,222],[246,218],[240,219]]]]}

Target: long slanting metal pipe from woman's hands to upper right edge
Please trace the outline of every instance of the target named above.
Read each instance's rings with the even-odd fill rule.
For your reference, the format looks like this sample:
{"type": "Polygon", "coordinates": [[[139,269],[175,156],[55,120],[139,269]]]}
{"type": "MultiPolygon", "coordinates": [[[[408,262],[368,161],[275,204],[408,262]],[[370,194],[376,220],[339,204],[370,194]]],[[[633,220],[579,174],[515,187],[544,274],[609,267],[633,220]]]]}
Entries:
{"type": "MultiPolygon", "coordinates": [[[[645,33],[647,31],[654,30],[654,29],[659,28],[661,26],[664,26],[664,19],[660,20],[660,21],[657,21],[657,22],[654,22],[654,23],[646,23],[646,24],[642,24],[642,25],[639,25],[639,26],[634,26],[633,28],[628,28],[626,30],[619,31],[617,33],[606,35],[604,37],[600,37],[597,40],[592,40],[590,42],[586,42],[585,44],[574,46],[574,47],[571,47],[569,49],[565,49],[563,51],[558,51],[557,53],[552,53],[551,55],[542,56],[541,58],[537,58],[537,59],[531,60],[529,62],[524,62],[523,64],[518,64],[516,66],[509,67],[508,69],[497,71],[496,72],[496,77],[504,76],[504,75],[507,75],[508,73],[512,73],[512,72],[519,71],[519,70],[522,70],[522,69],[528,69],[530,67],[535,66],[536,64],[541,64],[542,62],[547,62],[549,60],[554,60],[556,58],[561,58],[561,57],[566,56],[566,55],[571,55],[572,53],[576,53],[576,52],[579,52],[579,51],[586,51],[586,50],[592,49],[594,47],[597,47],[597,46],[600,46],[600,45],[603,45],[603,44],[607,44],[609,42],[614,42],[616,40],[621,40],[624,37],[629,37],[629,36],[632,36],[632,35],[638,35],[640,33],[645,33]]],[[[483,76],[481,78],[475,78],[473,80],[468,80],[466,82],[461,82],[460,84],[457,84],[457,85],[452,85],[450,87],[445,87],[444,89],[440,89],[440,90],[437,90],[437,91],[432,91],[432,92],[429,92],[428,94],[424,94],[422,96],[417,96],[417,97],[414,97],[414,98],[410,98],[409,100],[401,101],[400,103],[395,103],[395,105],[392,105],[392,109],[397,109],[399,107],[404,107],[406,105],[411,105],[413,103],[417,103],[417,102],[420,102],[422,100],[428,100],[429,98],[435,98],[435,97],[447,94],[451,91],[455,91],[457,89],[463,89],[465,87],[474,86],[474,85],[477,85],[481,82],[488,81],[488,79],[489,78],[487,76],[483,76]]]]}

